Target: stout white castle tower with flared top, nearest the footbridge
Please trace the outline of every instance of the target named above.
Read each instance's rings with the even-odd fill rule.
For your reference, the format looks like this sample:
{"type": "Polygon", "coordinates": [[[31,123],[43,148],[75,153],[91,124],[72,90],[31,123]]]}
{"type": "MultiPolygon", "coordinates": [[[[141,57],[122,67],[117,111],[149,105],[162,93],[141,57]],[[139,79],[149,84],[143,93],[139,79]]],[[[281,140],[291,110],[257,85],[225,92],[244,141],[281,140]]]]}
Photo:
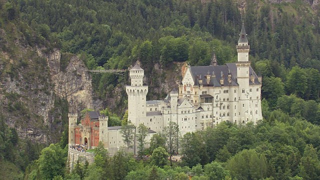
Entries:
{"type": "Polygon", "coordinates": [[[139,125],[146,117],[146,94],[148,86],[143,85],[144,70],[137,62],[130,70],[131,85],[126,86],[128,95],[128,121],[139,125]]]}

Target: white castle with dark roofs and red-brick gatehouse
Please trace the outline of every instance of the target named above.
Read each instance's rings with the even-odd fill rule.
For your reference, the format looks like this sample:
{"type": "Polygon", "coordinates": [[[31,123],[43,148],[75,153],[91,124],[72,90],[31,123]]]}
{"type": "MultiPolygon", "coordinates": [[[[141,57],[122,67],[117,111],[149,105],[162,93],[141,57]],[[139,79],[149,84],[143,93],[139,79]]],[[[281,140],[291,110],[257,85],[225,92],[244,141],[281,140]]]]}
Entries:
{"type": "MultiPolygon", "coordinates": [[[[178,124],[182,135],[222,121],[256,123],[262,119],[261,77],[250,66],[249,48],[242,24],[236,45],[237,62],[218,65],[213,53],[209,66],[188,65],[178,90],[173,88],[163,100],[146,100],[144,71],[136,63],[129,70],[131,84],[126,86],[128,121],[135,126],[147,126],[147,140],[153,133],[162,132],[169,121],[178,124]]],[[[107,127],[107,117],[93,111],[80,124],[76,124],[76,119],[77,114],[69,114],[69,144],[87,144],[91,148],[102,141],[111,154],[125,147],[121,127],[107,127]]]]}

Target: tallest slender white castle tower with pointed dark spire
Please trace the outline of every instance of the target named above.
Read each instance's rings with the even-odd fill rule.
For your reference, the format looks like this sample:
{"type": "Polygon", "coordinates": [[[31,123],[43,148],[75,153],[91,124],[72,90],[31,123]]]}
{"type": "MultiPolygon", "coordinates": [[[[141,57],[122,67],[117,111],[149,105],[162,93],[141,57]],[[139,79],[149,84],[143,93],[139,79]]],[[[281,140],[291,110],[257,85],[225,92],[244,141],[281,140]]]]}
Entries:
{"type": "Polygon", "coordinates": [[[241,121],[246,122],[249,119],[249,49],[247,34],[245,33],[244,24],[242,23],[240,37],[238,39],[238,44],[236,45],[236,51],[238,53],[238,61],[235,63],[237,67],[237,82],[239,84],[239,106],[238,113],[240,116],[244,117],[241,121]]]}

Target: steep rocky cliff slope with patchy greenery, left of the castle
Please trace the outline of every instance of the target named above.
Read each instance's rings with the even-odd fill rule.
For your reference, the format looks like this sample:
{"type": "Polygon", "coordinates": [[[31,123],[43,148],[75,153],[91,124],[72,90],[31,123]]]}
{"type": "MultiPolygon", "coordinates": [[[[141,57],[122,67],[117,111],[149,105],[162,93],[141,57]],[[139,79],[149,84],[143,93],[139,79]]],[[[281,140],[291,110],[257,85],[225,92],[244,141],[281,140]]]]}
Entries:
{"type": "Polygon", "coordinates": [[[18,19],[0,27],[0,113],[20,137],[56,142],[68,111],[93,108],[91,79],[77,56],[65,54],[63,67],[58,49],[30,46],[26,31],[44,40],[18,19]]]}

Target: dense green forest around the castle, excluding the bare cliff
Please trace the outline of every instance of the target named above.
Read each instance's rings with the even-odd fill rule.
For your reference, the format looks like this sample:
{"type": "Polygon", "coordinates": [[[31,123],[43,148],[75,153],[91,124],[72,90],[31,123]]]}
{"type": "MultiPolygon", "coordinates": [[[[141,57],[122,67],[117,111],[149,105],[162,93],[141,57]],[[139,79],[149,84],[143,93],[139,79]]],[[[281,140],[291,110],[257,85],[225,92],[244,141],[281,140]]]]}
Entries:
{"type": "MultiPolygon", "coordinates": [[[[140,60],[150,86],[148,98],[164,97],[165,92],[154,90],[161,83],[154,82],[160,82],[165,70],[178,62],[208,65],[213,48],[218,64],[236,61],[235,44],[244,22],[251,66],[262,75],[264,117],[257,125],[222,123],[184,135],[179,140],[183,158],[173,166],[168,165],[167,146],[158,142],[163,138],[159,136],[145,152],[151,155],[149,161],[135,161],[121,151],[108,158],[107,152],[98,149],[95,153],[100,159],[91,165],[78,163],[69,173],[64,164],[66,131],[58,144],[43,148],[43,144],[20,139],[0,116],[1,175],[16,179],[320,178],[320,7],[315,3],[0,0],[0,9],[0,28],[11,31],[10,38],[0,35],[1,51],[18,53],[16,41],[43,51],[61,49],[62,69],[70,54],[89,69],[127,69],[140,60]],[[154,73],[154,64],[159,64],[162,74],[154,73]],[[164,160],[152,160],[154,152],[164,160]]],[[[44,63],[41,60],[37,59],[39,68],[44,63]]],[[[1,61],[1,65],[5,64],[1,61]]],[[[27,64],[19,59],[19,65],[27,64]]],[[[32,73],[39,73],[36,70],[32,73]]],[[[12,66],[0,75],[12,77],[15,71],[12,66]]],[[[126,83],[123,76],[92,75],[95,98],[104,105],[112,91],[126,83]]],[[[119,125],[123,114],[125,117],[126,96],[124,89],[119,90],[123,95],[113,109],[112,125],[119,125]]],[[[12,98],[12,111],[23,110],[23,105],[14,103],[18,97],[12,98]]]]}

